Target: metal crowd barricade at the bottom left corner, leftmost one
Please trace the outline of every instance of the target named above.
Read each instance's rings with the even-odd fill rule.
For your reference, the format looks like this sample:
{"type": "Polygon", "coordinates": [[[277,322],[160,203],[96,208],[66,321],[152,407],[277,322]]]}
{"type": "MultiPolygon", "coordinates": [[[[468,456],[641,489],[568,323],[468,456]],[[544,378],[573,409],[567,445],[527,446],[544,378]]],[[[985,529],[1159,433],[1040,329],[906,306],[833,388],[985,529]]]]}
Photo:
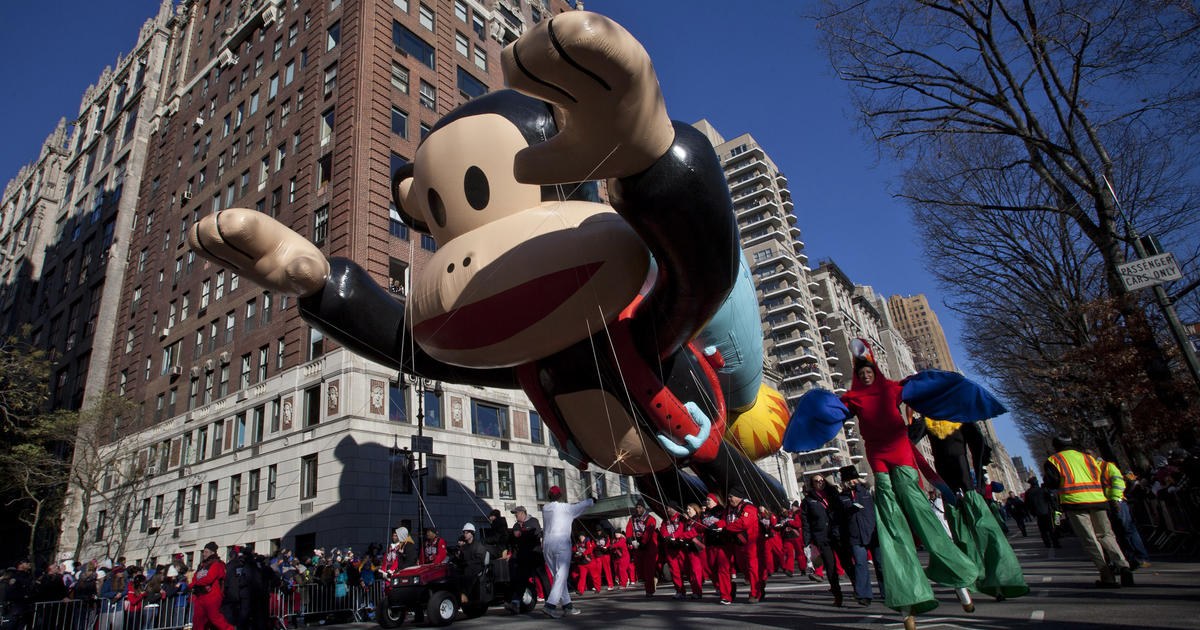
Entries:
{"type": "Polygon", "coordinates": [[[40,601],[34,605],[32,630],[181,630],[192,623],[187,595],[163,598],[137,611],[122,600],[40,601]]]}

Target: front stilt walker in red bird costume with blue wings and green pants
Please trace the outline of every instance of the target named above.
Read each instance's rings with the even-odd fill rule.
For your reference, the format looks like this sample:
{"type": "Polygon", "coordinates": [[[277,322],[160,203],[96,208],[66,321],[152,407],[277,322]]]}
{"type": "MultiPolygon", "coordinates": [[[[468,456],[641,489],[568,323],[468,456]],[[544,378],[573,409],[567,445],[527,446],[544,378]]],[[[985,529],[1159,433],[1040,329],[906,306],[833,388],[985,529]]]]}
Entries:
{"type": "Polygon", "coordinates": [[[967,588],[976,586],[980,569],[946,533],[920,490],[918,467],[938,490],[954,499],[908,440],[908,422],[900,415],[900,404],[964,422],[994,418],[1004,413],[1004,407],[961,374],[928,370],[896,383],[880,372],[866,341],[853,340],[851,352],[854,378],[850,391],[840,400],[826,390],[810,390],[802,396],[784,436],[784,449],[792,452],[817,449],[841,431],[842,422],[857,416],[868,462],[875,474],[884,602],[905,616],[905,628],[916,628],[916,614],[937,607],[929,584],[932,580],[954,588],[962,610],[973,612],[967,588]],[[913,533],[929,551],[924,575],[913,533]]]}

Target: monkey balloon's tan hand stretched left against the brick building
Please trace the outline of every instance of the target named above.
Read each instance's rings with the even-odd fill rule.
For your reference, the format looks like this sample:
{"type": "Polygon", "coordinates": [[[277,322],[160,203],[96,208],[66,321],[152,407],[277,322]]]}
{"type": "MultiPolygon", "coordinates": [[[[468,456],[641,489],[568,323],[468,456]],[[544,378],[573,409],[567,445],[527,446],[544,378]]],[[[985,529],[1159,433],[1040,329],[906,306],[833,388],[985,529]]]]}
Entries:
{"type": "Polygon", "coordinates": [[[187,245],[202,258],[289,295],[312,295],[329,276],[329,260],[308,239],[245,208],[202,218],[188,230],[187,245]]]}

